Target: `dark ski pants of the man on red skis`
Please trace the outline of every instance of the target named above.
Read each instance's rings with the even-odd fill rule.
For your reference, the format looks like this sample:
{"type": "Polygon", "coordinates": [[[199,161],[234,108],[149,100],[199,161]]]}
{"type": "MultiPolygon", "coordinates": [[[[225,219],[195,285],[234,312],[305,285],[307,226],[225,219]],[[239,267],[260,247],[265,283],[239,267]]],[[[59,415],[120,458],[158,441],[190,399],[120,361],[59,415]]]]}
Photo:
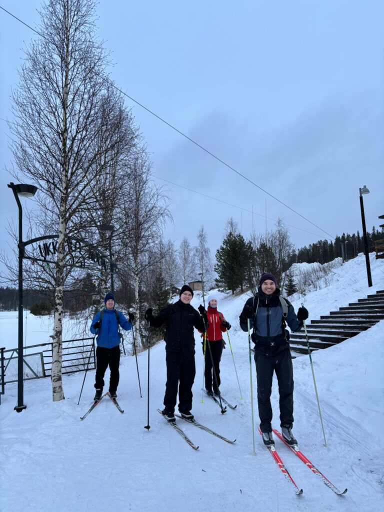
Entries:
{"type": "Polygon", "coordinates": [[[271,392],[273,372],[276,373],[280,396],[280,425],[292,427],[293,423],[293,367],[291,351],[283,350],[266,356],[255,349],[254,360],[258,382],[260,430],[272,431],[271,392]]]}

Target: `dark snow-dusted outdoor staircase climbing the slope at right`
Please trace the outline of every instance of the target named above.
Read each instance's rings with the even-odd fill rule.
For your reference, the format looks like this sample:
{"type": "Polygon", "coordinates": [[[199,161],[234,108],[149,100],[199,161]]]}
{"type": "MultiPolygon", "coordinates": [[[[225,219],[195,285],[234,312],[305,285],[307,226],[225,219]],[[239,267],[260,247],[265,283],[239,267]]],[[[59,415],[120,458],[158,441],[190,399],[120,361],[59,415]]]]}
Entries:
{"type": "MultiPolygon", "coordinates": [[[[311,352],[344,342],[384,318],[384,290],[378,290],[367,298],[359,298],[348,307],[331,311],[329,315],[320,318],[307,324],[311,352]]],[[[292,353],[308,354],[304,327],[299,332],[291,333],[289,344],[292,353]]]]}

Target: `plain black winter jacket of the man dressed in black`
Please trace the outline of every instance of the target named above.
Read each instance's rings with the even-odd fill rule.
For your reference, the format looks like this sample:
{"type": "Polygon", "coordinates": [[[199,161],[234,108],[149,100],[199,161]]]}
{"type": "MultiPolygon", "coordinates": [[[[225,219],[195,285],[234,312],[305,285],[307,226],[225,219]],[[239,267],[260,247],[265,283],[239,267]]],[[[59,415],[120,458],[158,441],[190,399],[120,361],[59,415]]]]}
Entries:
{"type": "Polygon", "coordinates": [[[195,352],[194,327],[205,332],[203,318],[190,304],[180,300],[175,304],[168,304],[158,316],[151,320],[152,327],[160,327],[166,323],[165,350],[167,352],[191,353],[195,352]]]}

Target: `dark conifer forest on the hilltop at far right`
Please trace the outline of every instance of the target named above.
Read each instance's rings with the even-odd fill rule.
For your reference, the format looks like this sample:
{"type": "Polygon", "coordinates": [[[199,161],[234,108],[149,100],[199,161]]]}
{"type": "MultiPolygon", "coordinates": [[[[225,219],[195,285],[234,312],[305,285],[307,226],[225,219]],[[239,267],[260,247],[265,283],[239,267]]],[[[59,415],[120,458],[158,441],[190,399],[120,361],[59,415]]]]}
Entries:
{"type": "MultiPolygon", "coordinates": [[[[375,240],[384,238],[384,229],[377,230],[373,226],[371,232],[367,232],[369,251],[373,250],[375,240]]],[[[335,258],[351,260],[359,252],[364,252],[364,239],[357,233],[343,233],[341,237],[336,236],[333,242],[319,240],[314,244],[304,246],[297,251],[297,263],[328,263],[335,258]]],[[[293,260],[294,260],[293,255],[293,260]]],[[[292,261],[295,263],[295,261],[292,261]]]]}

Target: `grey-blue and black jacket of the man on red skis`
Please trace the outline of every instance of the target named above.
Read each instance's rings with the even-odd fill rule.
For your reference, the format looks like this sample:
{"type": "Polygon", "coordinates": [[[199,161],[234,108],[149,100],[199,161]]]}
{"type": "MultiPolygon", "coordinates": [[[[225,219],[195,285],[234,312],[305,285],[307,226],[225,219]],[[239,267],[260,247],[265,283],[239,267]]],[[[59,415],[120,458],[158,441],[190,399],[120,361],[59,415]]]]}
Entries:
{"type": "MultiPolygon", "coordinates": [[[[276,288],[272,295],[266,295],[259,287],[258,292],[244,305],[244,308],[246,306],[253,308],[253,316],[249,319],[249,327],[253,328],[251,339],[255,349],[261,350],[265,355],[273,355],[289,347],[289,331],[285,328],[286,323],[291,331],[298,331],[303,326],[303,322],[297,319],[292,304],[286,298],[283,300],[288,306],[285,318],[279,288],[276,288]]],[[[244,308],[239,318],[240,327],[243,331],[248,331],[244,308]]]]}

